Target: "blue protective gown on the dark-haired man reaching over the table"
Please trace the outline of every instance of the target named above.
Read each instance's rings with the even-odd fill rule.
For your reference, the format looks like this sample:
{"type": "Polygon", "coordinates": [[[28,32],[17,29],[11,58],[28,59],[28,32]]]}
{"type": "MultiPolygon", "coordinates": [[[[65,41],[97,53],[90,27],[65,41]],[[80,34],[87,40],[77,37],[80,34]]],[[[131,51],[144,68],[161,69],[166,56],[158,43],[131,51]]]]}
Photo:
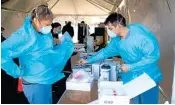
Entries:
{"type": "Polygon", "coordinates": [[[158,41],[154,34],[141,24],[127,26],[129,32],[125,39],[112,38],[108,46],[87,60],[88,63],[97,62],[112,56],[121,56],[129,71],[122,73],[122,81],[127,83],[147,73],[156,83],[162,80],[162,73],[158,67],[160,58],[158,41]]]}

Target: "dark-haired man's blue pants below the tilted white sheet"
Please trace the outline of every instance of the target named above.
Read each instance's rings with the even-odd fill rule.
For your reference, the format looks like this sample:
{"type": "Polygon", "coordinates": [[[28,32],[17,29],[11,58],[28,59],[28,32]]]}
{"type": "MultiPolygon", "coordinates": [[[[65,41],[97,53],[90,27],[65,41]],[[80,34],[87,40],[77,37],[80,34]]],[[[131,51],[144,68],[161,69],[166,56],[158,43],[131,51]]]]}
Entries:
{"type": "Polygon", "coordinates": [[[158,104],[159,85],[131,99],[131,104],[158,104]]]}

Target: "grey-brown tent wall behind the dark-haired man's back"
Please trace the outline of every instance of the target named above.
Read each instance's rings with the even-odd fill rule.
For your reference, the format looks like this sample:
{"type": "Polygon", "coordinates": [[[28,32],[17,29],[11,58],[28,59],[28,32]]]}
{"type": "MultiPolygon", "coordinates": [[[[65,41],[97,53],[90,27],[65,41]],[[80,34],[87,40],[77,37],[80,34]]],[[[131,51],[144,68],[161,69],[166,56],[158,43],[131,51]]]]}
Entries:
{"type": "Polygon", "coordinates": [[[163,73],[161,86],[171,99],[173,81],[173,45],[175,45],[175,0],[126,0],[129,23],[143,23],[156,35],[163,73]]]}

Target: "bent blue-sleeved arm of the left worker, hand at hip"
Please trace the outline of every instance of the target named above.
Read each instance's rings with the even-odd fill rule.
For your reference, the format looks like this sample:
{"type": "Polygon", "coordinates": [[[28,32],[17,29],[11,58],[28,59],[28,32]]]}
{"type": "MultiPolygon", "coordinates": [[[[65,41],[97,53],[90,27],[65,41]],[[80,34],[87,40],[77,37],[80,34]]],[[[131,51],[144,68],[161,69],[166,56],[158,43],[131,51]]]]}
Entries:
{"type": "Polygon", "coordinates": [[[1,68],[14,78],[23,74],[23,71],[13,61],[13,58],[17,58],[25,51],[23,36],[23,33],[18,30],[1,43],[1,68]]]}

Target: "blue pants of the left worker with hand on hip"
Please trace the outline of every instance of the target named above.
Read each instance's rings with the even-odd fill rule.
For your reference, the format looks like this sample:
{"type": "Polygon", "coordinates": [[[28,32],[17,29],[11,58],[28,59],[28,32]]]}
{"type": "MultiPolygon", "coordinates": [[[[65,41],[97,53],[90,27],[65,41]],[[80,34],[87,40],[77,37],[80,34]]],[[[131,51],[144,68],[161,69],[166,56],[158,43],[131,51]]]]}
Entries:
{"type": "Polygon", "coordinates": [[[52,85],[23,85],[23,89],[30,104],[52,104],[52,85]]]}

